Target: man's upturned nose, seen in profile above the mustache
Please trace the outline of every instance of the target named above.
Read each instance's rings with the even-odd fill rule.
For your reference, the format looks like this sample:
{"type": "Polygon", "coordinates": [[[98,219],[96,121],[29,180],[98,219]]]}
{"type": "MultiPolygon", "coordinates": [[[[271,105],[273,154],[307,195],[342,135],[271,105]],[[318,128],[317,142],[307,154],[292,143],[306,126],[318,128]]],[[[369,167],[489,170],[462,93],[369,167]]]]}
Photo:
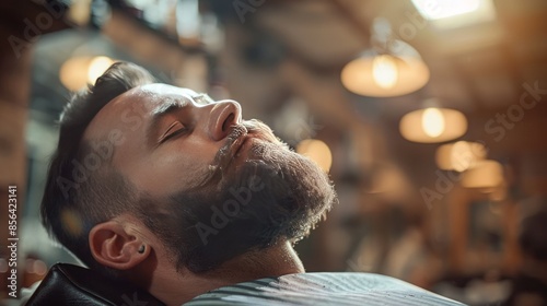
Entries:
{"type": "Polygon", "coordinates": [[[216,103],[209,116],[209,137],[214,141],[224,139],[231,131],[230,127],[241,120],[241,105],[237,102],[226,99],[216,103]]]}

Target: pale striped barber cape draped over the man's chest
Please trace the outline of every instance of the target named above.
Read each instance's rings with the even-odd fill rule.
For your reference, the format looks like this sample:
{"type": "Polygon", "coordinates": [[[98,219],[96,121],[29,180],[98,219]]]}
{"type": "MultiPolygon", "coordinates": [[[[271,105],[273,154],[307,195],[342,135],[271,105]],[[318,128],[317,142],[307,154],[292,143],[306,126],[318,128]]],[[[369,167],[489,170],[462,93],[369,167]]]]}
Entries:
{"type": "Polygon", "coordinates": [[[220,287],[185,306],[464,305],[407,282],[373,273],[298,273],[220,287]]]}

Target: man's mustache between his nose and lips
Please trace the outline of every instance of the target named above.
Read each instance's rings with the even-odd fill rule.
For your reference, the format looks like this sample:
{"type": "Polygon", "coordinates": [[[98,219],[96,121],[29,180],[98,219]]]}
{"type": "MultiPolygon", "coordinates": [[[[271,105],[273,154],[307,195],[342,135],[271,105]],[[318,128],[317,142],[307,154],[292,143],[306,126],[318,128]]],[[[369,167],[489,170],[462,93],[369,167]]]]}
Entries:
{"type": "Polygon", "coordinates": [[[261,139],[267,142],[283,145],[283,143],[274,134],[274,131],[266,123],[259,120],[243,120],[241,123],[234,125],[231,128],[232,130],[226,136],[224,144],[214,155],[212,163],[208,166],[208,169],[206,169],[206,175],[202,177],[201,181],[196,185],[196,188],[209,184],[216,177],[220,176],[222,178],[223,174],[228,169],[228,166],[235,157],[237,150],[241,148],[247,136],[253,136],[254,138],[261,139]]]}

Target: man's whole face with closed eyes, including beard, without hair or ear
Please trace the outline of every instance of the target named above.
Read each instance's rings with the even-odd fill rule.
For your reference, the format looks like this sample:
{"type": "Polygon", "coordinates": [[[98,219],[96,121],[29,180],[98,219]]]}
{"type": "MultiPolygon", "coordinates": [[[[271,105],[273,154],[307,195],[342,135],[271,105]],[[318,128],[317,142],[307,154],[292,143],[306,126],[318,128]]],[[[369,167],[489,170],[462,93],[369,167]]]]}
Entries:
{"type": "Polygon", "coordinates": [[[335,200],[317,165],[264,123],[243,121],[235,102],[140,86],[108,103],[84,134],[91,145],[105,138],[112,165],[141,195],[136,214],[193,271],[296,239],[335,200]]]}

